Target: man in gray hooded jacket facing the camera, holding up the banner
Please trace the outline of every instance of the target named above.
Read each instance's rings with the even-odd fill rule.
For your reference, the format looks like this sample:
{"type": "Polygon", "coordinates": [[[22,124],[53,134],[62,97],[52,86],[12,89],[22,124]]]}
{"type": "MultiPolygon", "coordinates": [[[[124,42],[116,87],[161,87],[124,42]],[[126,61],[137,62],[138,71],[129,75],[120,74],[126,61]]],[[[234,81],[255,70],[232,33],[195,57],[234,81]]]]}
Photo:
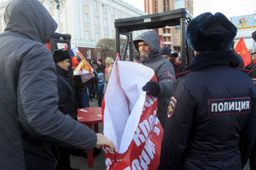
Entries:
{"type": "Polygon", "coordinates": [[[160,55],[159,38],[154,31],[140,34],[133,44],[140,53],[140,64],[152,68],[157,77],[158,82],[149,81],[142,90],[147,91],[147,95],[158,97],[158,119],[164,127],[175,81],[173,65],[160,55]]]}

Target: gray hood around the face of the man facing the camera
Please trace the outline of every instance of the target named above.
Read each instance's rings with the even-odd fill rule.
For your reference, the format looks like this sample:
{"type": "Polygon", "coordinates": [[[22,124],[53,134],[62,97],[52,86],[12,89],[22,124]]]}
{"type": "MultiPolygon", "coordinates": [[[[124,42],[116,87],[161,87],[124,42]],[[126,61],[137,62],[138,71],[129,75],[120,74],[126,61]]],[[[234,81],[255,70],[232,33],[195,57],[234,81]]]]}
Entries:
{"type": "Polygon", "coordinates": [[[136,50],[140,53],[139,51],[139,47],[137,45],[137,43],[139,41],[145,41],[149,46],[150,46],[150,50],[151,53],[156,55],[159,54],[160,52],[160,43],[159,43],[159,38],[157,33],[155,33],[154,31],[146,31],[142,34],[140,34],[139,36],[137,36],[134,40],[133,40],[133,44],[136,48],[136,50]]]}

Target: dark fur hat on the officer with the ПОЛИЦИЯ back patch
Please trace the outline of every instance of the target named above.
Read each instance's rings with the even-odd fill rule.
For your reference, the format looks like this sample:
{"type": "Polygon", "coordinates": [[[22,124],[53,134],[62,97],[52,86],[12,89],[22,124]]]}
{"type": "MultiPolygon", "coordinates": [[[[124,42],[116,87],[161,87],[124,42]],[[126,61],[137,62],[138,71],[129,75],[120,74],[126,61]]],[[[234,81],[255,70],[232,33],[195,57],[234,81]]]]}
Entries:
{"type": "Polygon", "coordinates": [[[197,52],[230,50],[236,35],[236,26],[220,12],[198,15],[188,24],[186,31],[188,44],[197,52]]]}

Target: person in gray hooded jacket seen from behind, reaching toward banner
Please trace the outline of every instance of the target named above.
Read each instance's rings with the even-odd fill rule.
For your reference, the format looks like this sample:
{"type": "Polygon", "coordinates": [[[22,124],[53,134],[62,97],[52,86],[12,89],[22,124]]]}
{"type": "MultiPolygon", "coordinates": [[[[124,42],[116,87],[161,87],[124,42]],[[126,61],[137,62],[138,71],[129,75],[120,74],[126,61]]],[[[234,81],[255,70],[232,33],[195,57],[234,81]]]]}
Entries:
{"type": "Polygon", "coordinates": [[[0,34],[0,169],[54,170],[51,144],[92,150],[110,141],[58,110],[56,67],[44,45],[57,24],[42,3],[10,1],[5,24],[0,34]]]}

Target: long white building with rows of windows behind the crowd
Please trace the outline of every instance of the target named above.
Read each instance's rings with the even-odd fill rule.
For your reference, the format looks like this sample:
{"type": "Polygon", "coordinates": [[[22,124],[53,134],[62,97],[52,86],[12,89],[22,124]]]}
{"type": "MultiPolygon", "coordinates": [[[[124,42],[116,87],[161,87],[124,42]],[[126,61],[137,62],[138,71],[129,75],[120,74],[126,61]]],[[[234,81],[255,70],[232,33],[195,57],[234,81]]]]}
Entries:
{"type": "MultiPolygon", "coordinates": [[[[58,12],[50,0],[39,1],[58,23],[58,12]]],[[[10,0],[5,0],[0,3],[0,32],[5,29],[4,11],[9,2],[10,0]]],[[[71,34],[71,43],[78,47],[84,57],[97,59],[101,57],[94,53],[97,42],[101,38],[116,36],[114,19],[146,14],[123,0],[65,0],[64,8],[59,10],[60,33],[71,34]]],[[[133,36],[136,37],[142,32],[144,30],[134,31],[133,36]]]]}

